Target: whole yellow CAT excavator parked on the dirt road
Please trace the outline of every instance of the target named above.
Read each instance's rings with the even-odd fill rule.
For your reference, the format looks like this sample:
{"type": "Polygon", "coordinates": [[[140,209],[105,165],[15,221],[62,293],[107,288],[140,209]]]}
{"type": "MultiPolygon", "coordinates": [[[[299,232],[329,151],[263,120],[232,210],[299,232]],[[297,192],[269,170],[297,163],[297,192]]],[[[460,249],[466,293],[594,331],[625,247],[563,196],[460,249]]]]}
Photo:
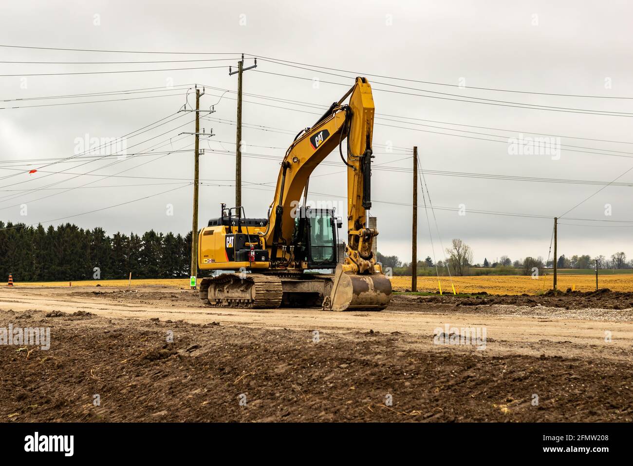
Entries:
{"type": "Polygon", "coordinates": [[[208,306],[315,307],[329,311],[381,311],[391,282],[372,252],[378,231],[367,228],[371,200],[372,87],[364,77],[303,129],[281,163],[266,218],[247,218],[243,207],[222,204],[220,217],[198,233],[198,268],[232,271],[200,282],[208,306]],[[343,102],[349,97],[349,103],[343,102]],[[347,138],[347,155],[342,152],[347,138]],[[348,174],[348,243],[339,261],[335,209],[306,205],[310,174],[337,146],[348,174]],[[303,204],[300,204],[303,195],[303,204]],[[342,257],[340,259],[343,259],[342,257]],[[342,263],[339,263],[342,262],[342,263]],[[334,274],[314,273],[335,269],[334,274]]]}

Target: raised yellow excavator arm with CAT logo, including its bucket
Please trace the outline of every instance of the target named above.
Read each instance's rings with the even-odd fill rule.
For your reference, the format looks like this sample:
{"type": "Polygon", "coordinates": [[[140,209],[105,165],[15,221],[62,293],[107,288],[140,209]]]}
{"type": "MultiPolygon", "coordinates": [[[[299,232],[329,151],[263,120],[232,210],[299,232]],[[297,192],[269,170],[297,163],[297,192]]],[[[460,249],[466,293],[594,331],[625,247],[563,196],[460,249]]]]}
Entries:
{"type": "Polygon", "coordinates": [[[268,228],[261,234],[270,251],[271,266],[290,261],[295,228],[294,212],[310,174],[338,146],[348,176],[348,244],[346,259],[337,266],[332,294],[324,309],[383,309],[389,302],[391,282],[382,274],[372,253],[378,231],[367,228],[371,209],[371,163],[373,133],[372,88],[357,77],[351,89],[332,104],[311,128],[303,130],[288,148],[282,161],[275,197],[270,205],[268,228]],[[348,105],[344,100],[349,96],[348,105]],[[347,138],[347,153],[342,142],[347,138]]]}

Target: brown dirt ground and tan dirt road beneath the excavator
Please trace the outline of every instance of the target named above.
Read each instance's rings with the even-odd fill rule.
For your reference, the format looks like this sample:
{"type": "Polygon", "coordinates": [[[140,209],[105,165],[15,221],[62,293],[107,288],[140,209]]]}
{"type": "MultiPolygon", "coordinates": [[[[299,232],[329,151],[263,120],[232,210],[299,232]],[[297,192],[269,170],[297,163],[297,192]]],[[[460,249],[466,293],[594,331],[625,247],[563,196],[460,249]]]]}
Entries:
{"type": "Polygon", "coordinates": [[[0,416],[630,420],[630,297],[598,298],[397,295],[381,313],[325,313],[213,309],[172,288],[0,288],[0,328],[51,327],[47,351],[0,346],[0,416]],[[467,327],[485,344],[434,339],[467,327]]]}

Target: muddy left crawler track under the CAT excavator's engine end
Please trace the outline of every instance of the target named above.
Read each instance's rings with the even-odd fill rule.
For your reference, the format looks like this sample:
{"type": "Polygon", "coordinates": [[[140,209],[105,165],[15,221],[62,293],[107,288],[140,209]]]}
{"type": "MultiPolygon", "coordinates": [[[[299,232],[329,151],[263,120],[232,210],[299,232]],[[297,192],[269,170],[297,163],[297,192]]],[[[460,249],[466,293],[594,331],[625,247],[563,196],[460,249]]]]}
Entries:
{"type": "Polygon", "coordinates": [[[259,273],[225,273],[200,282],[200,299],[207,306],[270,309],[282,301],[278,276],[259,273]]]}

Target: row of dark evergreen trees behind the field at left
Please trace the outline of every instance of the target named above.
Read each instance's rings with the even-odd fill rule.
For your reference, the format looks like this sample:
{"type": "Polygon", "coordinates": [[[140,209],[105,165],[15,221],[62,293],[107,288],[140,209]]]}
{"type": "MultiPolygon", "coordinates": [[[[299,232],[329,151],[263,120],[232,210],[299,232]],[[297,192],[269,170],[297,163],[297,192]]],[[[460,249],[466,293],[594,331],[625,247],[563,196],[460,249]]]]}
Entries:
{"type": "Polygon", "coordinates": [[[185,278],[191,266],[191,231],[186,236],[147,231],[106,235],[66,223],[45,229],[0,221],[0,277],[16,282],[185,278]]]}

